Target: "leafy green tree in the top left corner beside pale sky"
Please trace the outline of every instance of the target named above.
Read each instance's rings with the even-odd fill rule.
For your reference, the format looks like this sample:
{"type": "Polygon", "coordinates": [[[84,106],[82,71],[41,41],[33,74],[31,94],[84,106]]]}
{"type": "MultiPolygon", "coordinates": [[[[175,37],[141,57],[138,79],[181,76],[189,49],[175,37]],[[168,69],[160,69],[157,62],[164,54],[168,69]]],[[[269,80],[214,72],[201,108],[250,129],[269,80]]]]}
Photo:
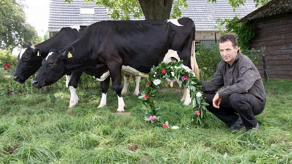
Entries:
{"type": "Polygon", "coordinates": [[[26,23],[23,7],[22,1],[0,1],[1,49],[20,47],[27,42],[41,42],[34,27],[26,23]]]}

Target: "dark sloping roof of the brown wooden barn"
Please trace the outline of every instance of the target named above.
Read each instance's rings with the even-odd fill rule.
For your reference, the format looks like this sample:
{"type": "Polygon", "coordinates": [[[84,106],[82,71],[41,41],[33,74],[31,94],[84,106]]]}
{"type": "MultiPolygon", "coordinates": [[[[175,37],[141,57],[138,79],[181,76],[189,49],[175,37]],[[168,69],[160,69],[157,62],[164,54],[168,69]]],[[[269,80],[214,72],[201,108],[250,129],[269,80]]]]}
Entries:
{"type": "Polygon", "coordinates": [[[271,0],[259,9],[241,18],[238,22],[251,21],[284,13],[292,13],[292,0],[271,0]]]}

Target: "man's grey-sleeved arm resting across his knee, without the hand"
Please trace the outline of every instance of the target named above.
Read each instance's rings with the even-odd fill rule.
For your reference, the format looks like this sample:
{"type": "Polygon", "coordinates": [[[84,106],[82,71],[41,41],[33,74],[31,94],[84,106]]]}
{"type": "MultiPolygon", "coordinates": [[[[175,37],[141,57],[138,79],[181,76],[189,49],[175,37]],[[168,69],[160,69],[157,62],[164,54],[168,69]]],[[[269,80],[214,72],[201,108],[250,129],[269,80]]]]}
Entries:
{"type": "Polygon", "coordinates": [[[228,86],[218,92],[221,98],[228,97],[232,93],[246,93],[256,79],[256,71],[252,70],[252,62],[245,60],[239,64],[239,77],[235,84],[228,86]]]}

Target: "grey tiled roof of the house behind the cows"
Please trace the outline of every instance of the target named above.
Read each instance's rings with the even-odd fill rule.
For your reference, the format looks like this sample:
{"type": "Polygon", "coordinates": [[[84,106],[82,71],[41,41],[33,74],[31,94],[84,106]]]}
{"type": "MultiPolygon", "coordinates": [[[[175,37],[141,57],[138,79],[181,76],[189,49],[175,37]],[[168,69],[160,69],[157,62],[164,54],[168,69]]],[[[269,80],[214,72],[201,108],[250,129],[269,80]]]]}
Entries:
{"type": "MultiPolygon", "coordinates": [[[[216,31],[216,18],[233,18],[232,7],[227,0],[217,0],[216,3],[207,0],[187,0],[188,9],[182,9],[182,17],[193,19],[196,31],[216,31]]],[[[239,6],[236,13],[239,18],[256,10],[253,0],[246,0],[244,6],[239,6]]],[[[144,20],[141,17],[139,20],[144,20]]],[[[64,0],[50,0],[50,17],[48,31],[59,31],[62,27],[73,25],[90,25],[98,21],[113,20],[107,14],[104,6],[98,7],[94,2],[73,0],[71,4],[64,0]],[[80,7],[94,7],[95,15],[80,15],[80,7]]],[[[131,20],[136,20],[131,17],[131,20]]]]}

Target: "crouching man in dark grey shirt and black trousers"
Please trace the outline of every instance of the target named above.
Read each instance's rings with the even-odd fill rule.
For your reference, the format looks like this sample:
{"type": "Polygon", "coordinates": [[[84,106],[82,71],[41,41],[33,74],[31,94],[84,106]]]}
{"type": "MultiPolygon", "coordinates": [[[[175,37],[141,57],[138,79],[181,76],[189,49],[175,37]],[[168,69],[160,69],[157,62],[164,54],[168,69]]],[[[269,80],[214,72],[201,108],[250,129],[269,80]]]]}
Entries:
{"type": "Polygon", "coordinates": [[[202,81],[207,109],[226,123],[231,130],[259,129],[255,115],[262,113],[266,93],[259,71],[238,49],[236,36],[224,34],[219,38],[223,60],[211,81],[202,81]],[[224,86],[224,89],[218,89],[224,86]]]}

